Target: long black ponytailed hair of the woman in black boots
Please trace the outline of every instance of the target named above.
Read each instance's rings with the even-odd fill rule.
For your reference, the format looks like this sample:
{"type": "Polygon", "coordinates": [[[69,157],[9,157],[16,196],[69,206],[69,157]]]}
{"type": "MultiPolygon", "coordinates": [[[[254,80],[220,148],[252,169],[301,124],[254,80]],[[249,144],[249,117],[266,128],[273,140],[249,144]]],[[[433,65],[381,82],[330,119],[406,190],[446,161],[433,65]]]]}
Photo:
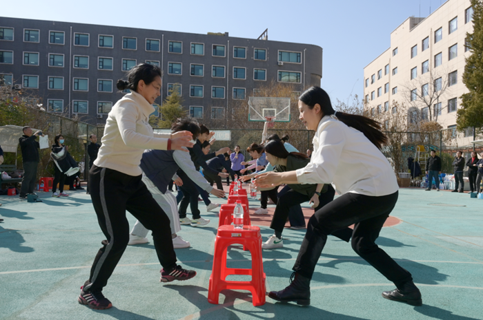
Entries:
{"type": "MultiPolygon", "coordinates": [[[[306,91],[299,96],[299,100],[308,105],[310,109],[313,109],[313,107],[318,104],[324,116],[335,114],[335,110],[331,104],[331,98],[329,98],[327,92],[321,87],[310,87],[306,89],[306,91]]],[[[381,131],[380,122],[365,116],[346,114],[341,111],[337,112],[336,117],[348,127],[353,127],[354,129],[361,131],[366,138],[373,142],[377,149],[381,149],[382,145],[387,142],[386,135],[381,131]]]]}

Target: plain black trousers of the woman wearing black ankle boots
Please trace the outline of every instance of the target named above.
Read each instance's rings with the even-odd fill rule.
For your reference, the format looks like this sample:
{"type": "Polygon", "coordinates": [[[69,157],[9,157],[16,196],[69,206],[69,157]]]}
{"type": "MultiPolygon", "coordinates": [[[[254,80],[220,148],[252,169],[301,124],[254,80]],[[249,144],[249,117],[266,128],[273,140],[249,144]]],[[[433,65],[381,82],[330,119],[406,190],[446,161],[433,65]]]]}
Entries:
{"type": "Polygon", "coordinates": [[[345,193],[317,210],[308,222],[293,270],[311,279],[327,236],[355,224],[352,248],[360,257],[396,286],[412,280],[411,273],[375,244],[382,225],[393,211],[397,195],[398,191],[381,197],[345,193]]]}

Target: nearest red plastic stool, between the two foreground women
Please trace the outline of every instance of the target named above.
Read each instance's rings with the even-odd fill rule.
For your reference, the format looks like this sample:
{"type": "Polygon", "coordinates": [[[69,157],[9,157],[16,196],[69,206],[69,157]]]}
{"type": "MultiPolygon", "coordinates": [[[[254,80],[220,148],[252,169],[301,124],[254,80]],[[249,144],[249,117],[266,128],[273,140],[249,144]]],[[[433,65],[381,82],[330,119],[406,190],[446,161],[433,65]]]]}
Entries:
{"type": "Polygon", "coordinates": [[[252,292],[253,306],[263,306],[266,295],[266,276],[262,263],[262,235],[257,226],[220,226],[215,239],[213,271],[208,287],[208,302],[218,304],[221,290],[249,290],[252,292]],[[252,256],[251,269],[227,268],[226,252],[231,244],[243,244],[252,256]],[[251,275],[251,281],[226,281],[228,275],[251,275]]]}

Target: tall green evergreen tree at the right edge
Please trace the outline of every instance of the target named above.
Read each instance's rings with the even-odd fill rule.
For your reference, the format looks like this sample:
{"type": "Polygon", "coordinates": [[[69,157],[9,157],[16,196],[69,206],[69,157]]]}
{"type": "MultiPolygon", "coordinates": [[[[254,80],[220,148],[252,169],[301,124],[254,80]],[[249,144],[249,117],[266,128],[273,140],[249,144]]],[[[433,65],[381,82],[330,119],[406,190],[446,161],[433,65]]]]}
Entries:
{"type": "Polygon", "coordinates": [[[463,83],[469,93],[463,94],[462,109],[457,110],[457,129],[483,127],[483,1],[471,0],[473,8],[473,33],[466,34],[466,45],[471,56],[466,58],[463,83]]]}

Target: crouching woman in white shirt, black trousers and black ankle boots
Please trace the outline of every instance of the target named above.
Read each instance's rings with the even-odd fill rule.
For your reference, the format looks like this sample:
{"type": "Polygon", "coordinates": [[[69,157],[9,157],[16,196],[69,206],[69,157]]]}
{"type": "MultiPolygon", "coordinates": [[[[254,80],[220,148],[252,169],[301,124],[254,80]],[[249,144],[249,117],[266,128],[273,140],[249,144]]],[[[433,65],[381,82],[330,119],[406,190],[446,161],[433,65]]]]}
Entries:
{"type": "Polygon", "coordinates": [[[353,249],[396,286],[382,296],[421,306],[421,293],[411,273],[375,244],[399,189],[391,164],[380,151],[387,139],[380,124],[364,116],[336,113],[328,94],[319,87],[311,87],[299,97],[299,112],[307,129],[316,131],[311,162],[296,171],[263,173],[255,183],[261,187],[332,183],[340,196],[311,217],[290,277],[295,279],[284,290],[270,292],[269,297],[310,304],[310,281],[327,235],[355,224],[353,249]]]}

